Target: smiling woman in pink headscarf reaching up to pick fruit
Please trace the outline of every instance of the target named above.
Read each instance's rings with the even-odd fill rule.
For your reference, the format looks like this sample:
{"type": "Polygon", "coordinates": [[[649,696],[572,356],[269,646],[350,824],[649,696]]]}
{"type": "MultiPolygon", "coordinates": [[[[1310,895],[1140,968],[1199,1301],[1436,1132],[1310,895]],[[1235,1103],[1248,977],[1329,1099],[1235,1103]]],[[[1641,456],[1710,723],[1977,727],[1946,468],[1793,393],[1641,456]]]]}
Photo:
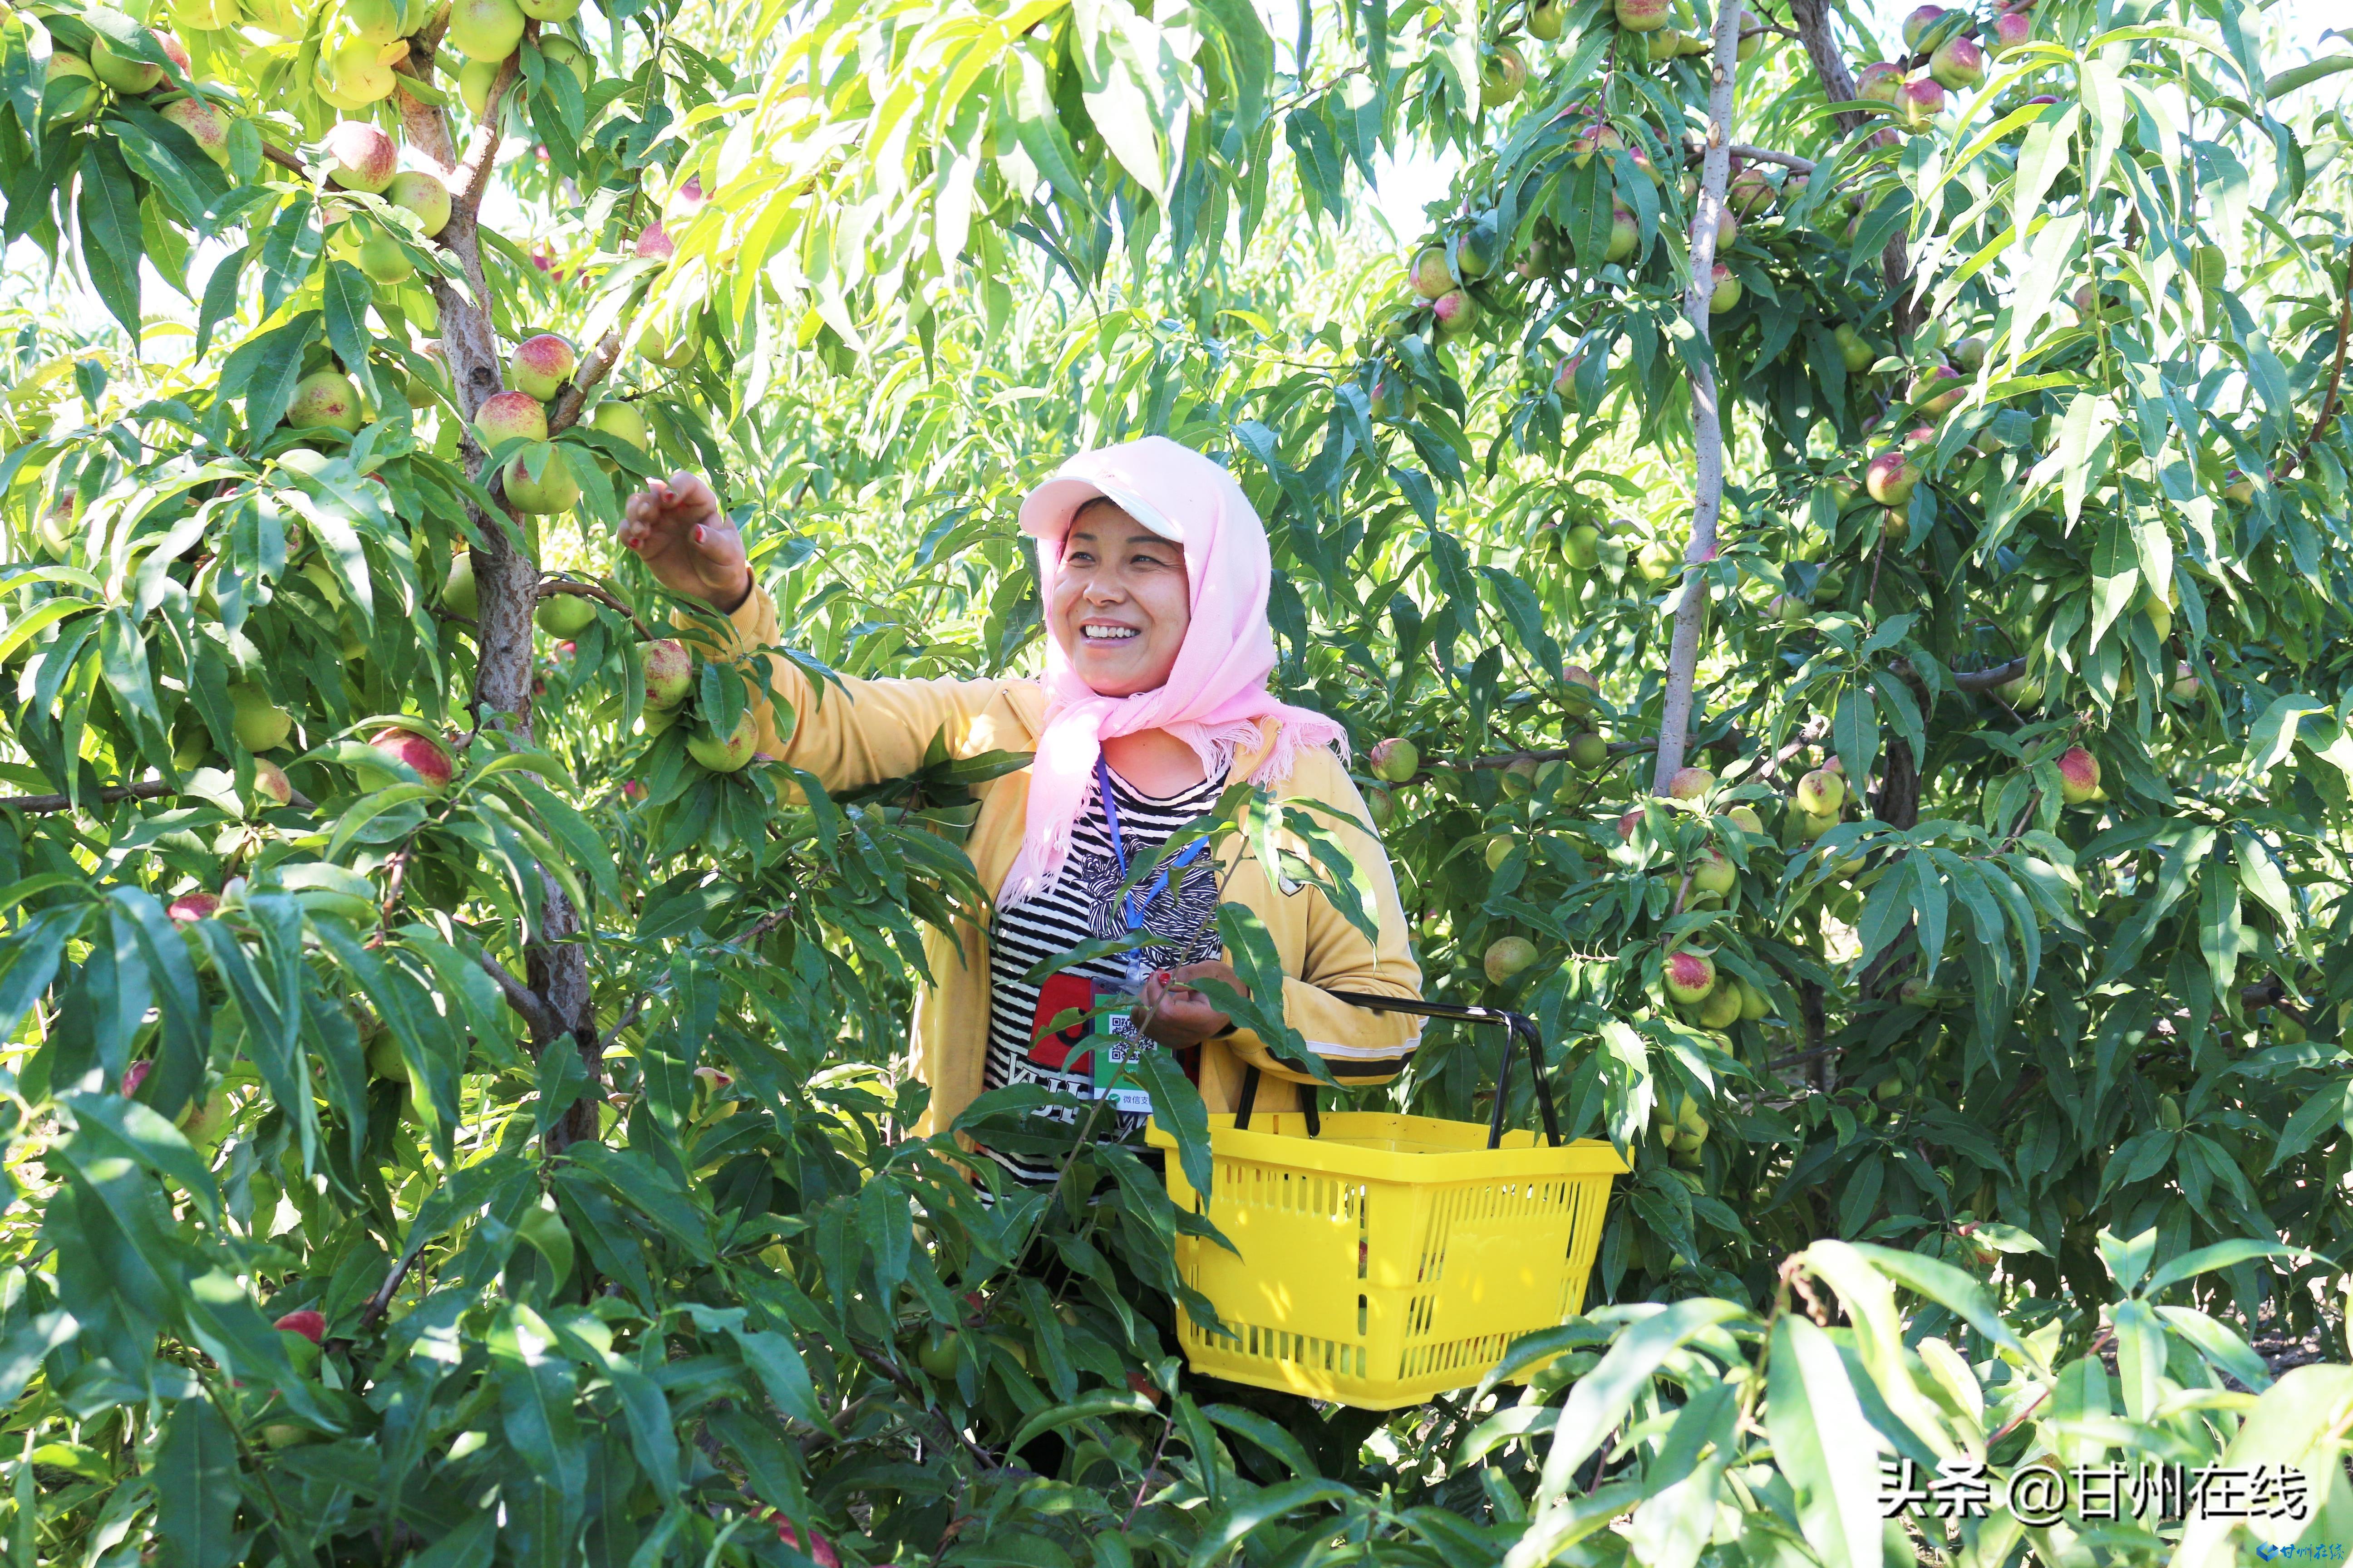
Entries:
{"type": "MultiPolygon", "coordinates": [[[[1421,971],[1405,943],[1388,856],[1341,762],[1332,719],[1266,691],[1275,639],[1266,623],[1266,527],[1240,484],[1209,458],[1146,437],[1073,458],[1021,503],[1038,541],[1047,609],[1042,679],[849,679],[824,693],[784,658],[769,682],[793,710],[791,733],[755,703],[760,750],[854,790],[915,771],[946,733],[951,755],[1035,752],[1031,766],[981,788],[967,853],[981,886],[998,889],[986,926],[927,931],[934,983],[915,999],[915,1070],[932,1088],[918,1133],[955,1121],[984,1088],[1040,1084],[1080,1098],[1113,1095],[1122,1131],[1148,1098],[1118,1079],[1125,1048],[1151,1041],[1176,1053],[1209,1112],[1231,1112],[1257,1067],[1257,1110],[1289,1110],[1313,1079],[1240,1030],[1193,987],[1214,978],[1240,990],[1217,938],[1217,903],[1259,914],[1282,959],[1282,1018],[1341,1084],[1393,1077],[1421,1027],[1332,997],[1417,997],[1421,971]],[[1125,867],[1198,820],[1228,780],[1271,785],[1282,799],[1320,802],[1332,832],[1365,867],[1379,940],[1315,889],[1289,884],[1228,842],[1212,867],[1169,867],[1118,891],[1125,867]],[[1214,870],[1214,877],[1209,875],[1214,870]],[[1089,938],[1151,938],[1136,959],[1113,952],[1035,985],[1040,961],[1089,938]],[[1054,1030],[1059,1016],[1134,999],[1115,1037],[1054,1030]],[[1096,1060],[1101,1058],[1101,1060],[1096,1060]]],[[[675,475],[628,498],[621,543],[671,590],[729,616],[744,656],[779,642],[776,607],[753,578],[744,538],[711,487],[675,475]]],[[[1049,1166],[995,1152],[1016,1175],[1049,1166]]]]}

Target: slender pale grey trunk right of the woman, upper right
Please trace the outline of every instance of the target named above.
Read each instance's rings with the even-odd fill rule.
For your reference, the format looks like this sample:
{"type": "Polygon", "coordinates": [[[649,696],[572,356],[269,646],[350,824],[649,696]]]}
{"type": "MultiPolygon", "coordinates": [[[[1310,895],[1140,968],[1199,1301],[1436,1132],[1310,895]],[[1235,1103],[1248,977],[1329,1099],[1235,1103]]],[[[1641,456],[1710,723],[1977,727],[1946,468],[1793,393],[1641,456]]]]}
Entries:
{"type": "MultiPolygon", "coordinates": [[[[1711,52],[1715,80],[1708,92],[1708,148],[1699,162],[1699,202],[1692,209],[1692,284],[1682,296],[1682,315],[1701,343],[1708,343],[1708,299],[1715,294],[1715,221],[1725,209],[1725,186],[1732,179],[1732,87],[1739,75],[1739,40],[1741,7],[1734,0],[1722,0],[1711,52]]],[[[1713,350],[1692,367],[1692,442],[1699,451],[1692,480],[1692,541],[1682,550],[1682,597],[1675,604],[1675,635],[1666,656],[1659,766],[1652,771],[1657,795],[1666,795],[1668,780],[1682,769],[1692,733],[1699,635],[1708,618],[1704,569],[1715,559],[1715,520],[1725,505],[1725,423],[1715,402],[1713,350]]]]}

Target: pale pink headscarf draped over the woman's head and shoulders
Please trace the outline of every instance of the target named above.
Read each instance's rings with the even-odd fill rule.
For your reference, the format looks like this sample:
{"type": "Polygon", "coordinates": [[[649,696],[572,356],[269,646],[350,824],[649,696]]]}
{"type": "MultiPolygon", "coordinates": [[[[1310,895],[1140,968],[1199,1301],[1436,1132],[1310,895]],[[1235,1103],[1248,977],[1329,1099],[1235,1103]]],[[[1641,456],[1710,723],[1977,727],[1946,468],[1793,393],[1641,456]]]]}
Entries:
{"type": "Polygon", "coordinates": [[[1104,496],[1153,534],[1184,545],[1193,618],[1165,686],[1136,696],[1099,696],[1071,670],[1071,656],[1045,639],[1045,733],[1031,764],[1028,825],[1021,853],[1005,872],[998,905],[1016,905],[1054,884],[1071,853],[1071,827],[1094,792],[1094,759],[1108,736],[1165,729],[1217,778],[1238,748],[1259,743],[1259,719],[1275,738],[1249,773],[1252,783],[1292,776],[1301,745],[1348,755],[1348,733],[1320,712],[1289,708],[1266,691],[1275,668],[1275,632],[1266,623],[1266,524],[1242,487],[1202,454],[1165,435],[1082,451],[1021,503],[1021,531],[1038,541],[1038,592],[1054,602],[1061,541],[1087,501],[1104,496]]]}

